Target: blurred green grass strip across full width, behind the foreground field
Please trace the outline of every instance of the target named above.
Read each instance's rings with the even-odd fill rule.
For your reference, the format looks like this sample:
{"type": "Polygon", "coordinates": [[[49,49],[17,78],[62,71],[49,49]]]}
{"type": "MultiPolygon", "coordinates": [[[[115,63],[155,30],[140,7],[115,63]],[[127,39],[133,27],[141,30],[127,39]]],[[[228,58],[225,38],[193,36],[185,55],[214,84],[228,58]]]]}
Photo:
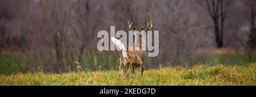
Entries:
{"type": "MultiPolygon", "coordinates": [[[[204,55],[197,54],[195,57],[201,57],[204,55]]],[[[0,74],[11,74],[16,72],[35,72],[40,71],[42,68],[47,68],[47,65],[51,65],[48,63],[47,60],[48,57],[38,57],[36,54],[25,54],[25,53],[9,53],[9,54],[0,54],[0,74]],[[35,64],[36,63],[36,64],[35,64]],[[18,65],[20,64],[20,65],[18,65]],[[34,66],[38,65],[38,66],[34,66]],[[26,71],[27,70],[27,71],[26,71]]],[[[55,58],[55,56],[53,56],[55,58]]],[[[119,56],[114,56],[112,53],[101,53],[97,54],[94,53],[92,56],[86,56],[86,54],[83,54],[82,56],[82,68],[85,71],[89,70],[110,70],[110,69],[118,69],[118,58],[119,56]],[[98,68],[101,66],[102,68],[98,68]]],[[[74,54],[74,59],[78,59],[78,55],[74,54]]],[[[161,59],[159,57],[159,59],[161,59]]],[[[166,63],[175,64],[173,60],[173,57],[168,58],[170,60],[167,60],[166,63]]],[[[193,66],[193,63],[189,63],[189,61],[185,60],[185,56],[181,56],[180,58],[180,64],[183,65],[184,63],[187,63],[185,65],[193,66]],[[184,63],[183,63],[184,62],[184,63]]],[[[54,60],[54,59],[53,59],[54,60]]],[[[252,62],[256,63],[256,54],[252,57],[252,62]]],[[[66,64],[65,70],[69,69],[69,64],[67,64],[67,61],[64,59],[64,63],[66,64]]],[[[152,68],[151,64],[151,58],[147,59],[147,68],[152,68]]],[[[248,65],[249,59],[246,54],[212,54],[208,56],[204,60],[199,60],[197,63],[200,64],[208,64],[210,66],[214,66],[216,64],[226,64],[226,65],[248,65]]],[[[75,65],[75,62],[73,62],[73,65],[75,65]]],[[[157,64],[156,64],[157,65],[157,64]]],[[[159,65],[159,64],[158,64],[159,65]]],[[[168,66],[166,64],[165,66],[168,66]]],[[[170,65],[169,65],[170,66],[170,65]]],[[[51,68],[50,68],[51,69],[51,68]]]]}

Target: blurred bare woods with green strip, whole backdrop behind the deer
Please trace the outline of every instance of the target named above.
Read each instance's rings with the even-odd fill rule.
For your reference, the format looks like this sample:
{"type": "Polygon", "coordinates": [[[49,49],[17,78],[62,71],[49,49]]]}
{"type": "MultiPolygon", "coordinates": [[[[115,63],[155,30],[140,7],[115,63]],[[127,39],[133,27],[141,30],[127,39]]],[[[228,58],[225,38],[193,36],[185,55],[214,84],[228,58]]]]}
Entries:
{"type": "Polygon", "coordinates": [[[159,56],[146,67],[242,64],[255,59],[256,1],[0,0],[0,73],[117,69],[118,52],[97,50],[115,26],[159,31],[159,56]]]}

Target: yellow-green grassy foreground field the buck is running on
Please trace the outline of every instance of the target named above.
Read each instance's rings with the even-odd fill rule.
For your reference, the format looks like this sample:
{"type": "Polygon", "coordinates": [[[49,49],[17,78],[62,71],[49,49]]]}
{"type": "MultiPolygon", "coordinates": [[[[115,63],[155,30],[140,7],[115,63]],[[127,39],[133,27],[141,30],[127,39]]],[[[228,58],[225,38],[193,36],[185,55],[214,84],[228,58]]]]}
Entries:
{"type": "Polygon", "coordinates": [[[0,85],[256,85],[256,64],[197,65],[147,70],[122,77],[116,70],[86,73],[0,75],[0,85]]]}

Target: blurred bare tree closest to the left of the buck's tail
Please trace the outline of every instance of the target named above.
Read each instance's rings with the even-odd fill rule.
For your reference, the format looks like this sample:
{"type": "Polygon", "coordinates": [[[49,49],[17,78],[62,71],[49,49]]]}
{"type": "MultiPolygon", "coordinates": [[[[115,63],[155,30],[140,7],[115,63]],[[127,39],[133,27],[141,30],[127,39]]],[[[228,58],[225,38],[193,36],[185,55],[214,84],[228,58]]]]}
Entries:
{"type": "MultiPolygon", "coordinates": [[[[95,5],[94,5],[95,6],[95,5]]],[[[77,0],[76,2],[76,17],[75,17],[75,36],[78,40],[79,57],[78,62],[82,62],[82,56],[86,52],[86,58],[93,60],[92,41],[96,38],[96,28],[101,26],[99,23],[101,10],[94,10],[93,1],[90,0],[77,0]]],[[[93,61],[89,61],[90,67],[93,67],[93,61]]]]}

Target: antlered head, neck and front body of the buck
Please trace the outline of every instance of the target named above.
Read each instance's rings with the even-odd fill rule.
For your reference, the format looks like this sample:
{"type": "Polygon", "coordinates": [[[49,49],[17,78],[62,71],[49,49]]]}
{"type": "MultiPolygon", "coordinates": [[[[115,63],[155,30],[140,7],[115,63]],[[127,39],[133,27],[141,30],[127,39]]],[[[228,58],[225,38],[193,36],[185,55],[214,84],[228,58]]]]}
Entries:
{"type": "MultiPolygon", "coordinates": [[[[140,31],[138,31],[137,28],[131,28],[133,25],[133,22],[130,23],[130,21],[128,21],[128,28],[129,28],[129,31],[133,32],[133,35],[135,36],[135,39],[134,39],[134,48],[136,49],[139,49],[139,50],[135,50],[135,52],[139,55],[139,57],[141,58],[141,61],[142,61],[142,66],[141,66],[141,74],[143,74],[143,71],[145,69],[145,64],[146,64],[146,57],[147,57],[147,54],[146,54],[146,50],[143,50],[143,49],[146,49],[146,47],[144,47],[143,44],[146,44],[146,39],[144,39],[143,36],[146,35],[146,32],[149,31],[150,29],[152,29],[153,25],[150,21],[150,23],[147,22],[147,28],[144,29],[144,28],[141,28],[140,31]]],[[[134,69],[134,68],[133,68],[134,69]]]]}

